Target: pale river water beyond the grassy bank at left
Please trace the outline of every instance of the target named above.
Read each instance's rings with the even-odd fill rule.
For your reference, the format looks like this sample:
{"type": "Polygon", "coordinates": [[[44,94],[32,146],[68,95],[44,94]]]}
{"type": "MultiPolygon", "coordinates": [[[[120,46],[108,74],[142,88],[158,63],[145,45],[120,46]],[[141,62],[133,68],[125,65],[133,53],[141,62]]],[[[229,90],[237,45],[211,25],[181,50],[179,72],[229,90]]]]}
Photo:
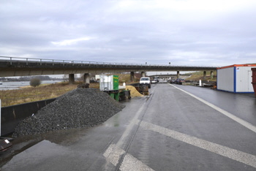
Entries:
{"type": "MultiPolygon", "coordinates": [[[[59,83],[61,80],[43,80],[41,81],[41,84],[53,84],[53,83],[59,83]]],[[[0,91],[1,90],[15,90],[19,89],[23,86],[29,86],[30,81],[7,81],[7,82],[0,82],[0,91]]]]}

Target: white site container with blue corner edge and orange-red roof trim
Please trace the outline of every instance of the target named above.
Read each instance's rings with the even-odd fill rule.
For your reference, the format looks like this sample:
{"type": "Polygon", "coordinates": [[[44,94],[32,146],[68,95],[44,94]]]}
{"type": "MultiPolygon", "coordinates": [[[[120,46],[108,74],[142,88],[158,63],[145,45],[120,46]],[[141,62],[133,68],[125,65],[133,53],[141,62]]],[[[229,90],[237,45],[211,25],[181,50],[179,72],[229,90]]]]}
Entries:
{"type": "Polygon", "coordinates": [[[256,68],[256,64],[234,64],[217,68],[217,89],[233,93],[254,93],[252,68],[256,68]]]}

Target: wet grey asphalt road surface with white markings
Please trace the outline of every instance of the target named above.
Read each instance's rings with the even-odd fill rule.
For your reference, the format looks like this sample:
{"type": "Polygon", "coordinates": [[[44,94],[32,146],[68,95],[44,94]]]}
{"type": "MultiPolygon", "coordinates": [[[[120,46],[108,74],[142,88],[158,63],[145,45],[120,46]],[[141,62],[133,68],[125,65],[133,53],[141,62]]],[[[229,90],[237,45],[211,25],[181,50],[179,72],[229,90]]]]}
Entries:
{"type": "Polygon", "coordinates": [[[45,135],[1,170],[256,170],[256,98],[152,85],[91,129],[45,135]]]}

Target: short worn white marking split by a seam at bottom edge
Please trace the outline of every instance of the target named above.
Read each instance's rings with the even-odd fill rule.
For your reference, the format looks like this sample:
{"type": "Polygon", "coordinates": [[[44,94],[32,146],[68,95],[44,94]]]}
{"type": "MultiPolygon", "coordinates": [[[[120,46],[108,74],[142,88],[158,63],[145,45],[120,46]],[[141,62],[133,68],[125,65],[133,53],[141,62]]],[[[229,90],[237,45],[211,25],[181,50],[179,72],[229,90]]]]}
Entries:
{"type": "MultiPolygon", "coordinates": [[[[105,151],[103,156],[108,159],[114,166],[118,164],[118,160],[121,155],[123,155],[125,151],[121,148],[118,148],[117,145],[111,144],[108,149],[105,151]]],[[[123,161],[121,161],[121,166],[119,168],[121,171],[129,171],[129,170],[148,170],[154,171],[143,162],[136,159],[134,156],[129,153],[125,154],[123,161]]]]}

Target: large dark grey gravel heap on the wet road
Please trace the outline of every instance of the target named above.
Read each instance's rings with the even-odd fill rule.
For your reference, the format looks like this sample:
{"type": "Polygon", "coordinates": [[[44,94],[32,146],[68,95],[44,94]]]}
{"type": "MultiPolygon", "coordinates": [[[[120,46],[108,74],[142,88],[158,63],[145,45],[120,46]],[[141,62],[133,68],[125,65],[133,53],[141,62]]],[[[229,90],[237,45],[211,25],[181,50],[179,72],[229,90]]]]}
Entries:
{"type": "Polygon", "coordinates": [[[76,88],[21,121],[15,137],[42,134],[57,129],[81,128],[102,123],[124,108],[96,88],[76,88]]]}

